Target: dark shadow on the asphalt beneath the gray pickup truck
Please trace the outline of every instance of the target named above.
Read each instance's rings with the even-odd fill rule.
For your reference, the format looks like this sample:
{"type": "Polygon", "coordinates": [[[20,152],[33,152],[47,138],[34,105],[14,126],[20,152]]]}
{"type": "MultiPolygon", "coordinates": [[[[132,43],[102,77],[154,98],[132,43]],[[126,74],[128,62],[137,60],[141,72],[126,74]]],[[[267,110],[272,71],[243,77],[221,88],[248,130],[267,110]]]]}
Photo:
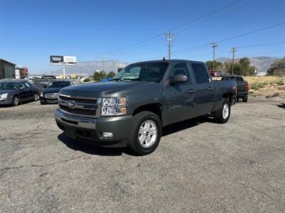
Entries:
{"type": "MultiPolygon", "coordinates": [[[[189,119],[186,121],[181,121],[169,126],[165,126],[162,129],[162,137],[168,136],[172,133],[177,133],[179,131],[189,129],[193,126],[203,124],[204,122],[213,122],[213,119],[209,116],[200,116],[195,119],[189,119]]],[[[104,155],[104,156],[118,156],[123,153],[128,155],[134,155],[127,148],[105,148],[100,146],[94,146],[89,143],[83,143],[81,141],[76,141],[76,139],[69,138],[65,133],[58,135],[58,140],[64,143],[68,148],[73,149],[74,151],[81,151],[83,153],[91,155],[104,155]]]]}

